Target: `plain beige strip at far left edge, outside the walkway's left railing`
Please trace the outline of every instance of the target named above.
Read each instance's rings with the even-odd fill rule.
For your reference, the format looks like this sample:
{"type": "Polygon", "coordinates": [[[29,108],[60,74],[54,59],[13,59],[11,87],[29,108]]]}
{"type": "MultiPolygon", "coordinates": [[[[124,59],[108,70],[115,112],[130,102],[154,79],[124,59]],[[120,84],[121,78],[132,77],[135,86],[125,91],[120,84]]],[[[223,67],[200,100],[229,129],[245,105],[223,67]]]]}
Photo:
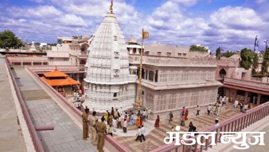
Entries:
{"type": "Polygon", "coordinates": [[[0,57],[0,151],[27,151],[10,93],[6,60],[0,57]]]}

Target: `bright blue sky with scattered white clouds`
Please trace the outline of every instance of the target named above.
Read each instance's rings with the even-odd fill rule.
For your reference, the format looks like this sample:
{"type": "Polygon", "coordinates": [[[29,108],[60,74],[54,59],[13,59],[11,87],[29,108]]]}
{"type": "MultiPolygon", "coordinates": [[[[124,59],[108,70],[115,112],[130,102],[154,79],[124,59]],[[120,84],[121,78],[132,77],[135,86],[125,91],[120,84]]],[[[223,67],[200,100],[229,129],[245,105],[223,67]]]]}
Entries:
{"type": "MultiPolygon", "coordinates": [[[[57,37],[93,35],[111,0],[0,0],[0,32],[12,30],[26,42],[57,43],[57,37]]],[[[144,44],[208,46],[212,52],[266,48],[268,0],[114,0],[123,35],[144,44]]]]}

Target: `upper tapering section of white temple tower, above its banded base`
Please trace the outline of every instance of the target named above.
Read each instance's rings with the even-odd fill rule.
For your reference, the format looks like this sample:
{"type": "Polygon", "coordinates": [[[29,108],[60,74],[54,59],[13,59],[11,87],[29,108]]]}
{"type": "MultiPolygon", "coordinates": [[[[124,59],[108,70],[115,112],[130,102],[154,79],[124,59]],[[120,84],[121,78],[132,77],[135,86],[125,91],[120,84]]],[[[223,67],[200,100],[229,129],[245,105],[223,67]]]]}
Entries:
{"type": "Polygon", "coordinates": [[[119,84],[128,81],[126,76],[129,75],[129,61],[126,42],[114,13],[106,14],[95,32],[89,50],[85,82],[99,83],[101,81],[102,84],[119,84]],[[108,71],[107,68],[110,70],[110,79],[99,79],[99,75],[108,77],[108,73],[104,73],[104,71],[108,71]],[[96,73],[92,73],[92,71],[96,71],[96,73]]]}

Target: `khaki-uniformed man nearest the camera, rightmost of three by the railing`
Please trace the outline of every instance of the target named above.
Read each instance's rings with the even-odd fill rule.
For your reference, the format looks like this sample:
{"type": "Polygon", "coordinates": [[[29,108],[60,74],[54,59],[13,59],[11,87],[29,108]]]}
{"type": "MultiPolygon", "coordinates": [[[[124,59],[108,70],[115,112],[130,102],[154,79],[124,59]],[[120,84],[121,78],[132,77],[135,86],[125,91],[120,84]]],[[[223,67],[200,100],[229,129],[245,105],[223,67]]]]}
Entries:
{"type": "Polygon", "coordinates": [[[103,144],[105,142],[105,135],[108,135],[106,132],[105,117],[101,117],[101,122],[98,122],[95,126],[97,131],[97,149],[99,152],[103,152],[103,144]]]}

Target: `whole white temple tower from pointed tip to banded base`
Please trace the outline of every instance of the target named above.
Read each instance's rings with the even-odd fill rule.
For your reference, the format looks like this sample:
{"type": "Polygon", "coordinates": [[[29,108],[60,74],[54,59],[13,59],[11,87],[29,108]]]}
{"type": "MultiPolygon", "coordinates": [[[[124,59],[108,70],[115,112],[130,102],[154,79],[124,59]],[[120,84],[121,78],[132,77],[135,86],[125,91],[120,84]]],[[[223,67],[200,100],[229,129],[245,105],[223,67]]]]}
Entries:
{"type": "Polygon", "coordinates": [[[84,79],[85,106],[98,112],[112,106],[132,108],[137,75],[130,72],[126,40],[112,7],[97,29],[89,51],[84,79]]]}

